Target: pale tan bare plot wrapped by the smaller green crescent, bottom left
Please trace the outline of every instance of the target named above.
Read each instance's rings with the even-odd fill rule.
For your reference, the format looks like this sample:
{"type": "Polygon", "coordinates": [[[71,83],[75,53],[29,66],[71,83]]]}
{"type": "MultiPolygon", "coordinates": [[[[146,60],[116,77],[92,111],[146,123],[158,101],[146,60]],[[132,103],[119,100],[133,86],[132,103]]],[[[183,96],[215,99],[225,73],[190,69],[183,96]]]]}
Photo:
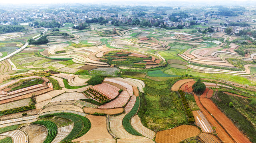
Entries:
{"type": "Polygon", "coordinates": [[[44,126],[29,125],[21,128],[28,134],[30,143],[43,143],[47,136],[47,129],[44,126]]]}

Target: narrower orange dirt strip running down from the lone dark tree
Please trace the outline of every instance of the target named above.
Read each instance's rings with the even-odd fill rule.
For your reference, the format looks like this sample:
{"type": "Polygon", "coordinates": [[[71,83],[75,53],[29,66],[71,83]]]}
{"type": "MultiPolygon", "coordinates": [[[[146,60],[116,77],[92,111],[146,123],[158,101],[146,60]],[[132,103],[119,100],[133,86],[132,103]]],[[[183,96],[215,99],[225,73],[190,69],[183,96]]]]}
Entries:
{"type": "Polygon", "coordinates": [[[200,103],[199,97],[194,95],[194,99],[196,100],[197,106],[203,112],[204,116],[207,118],[210,124],[212,124],[212,126],[216,128],[215,130],[216,130],[216,133],[218,134],[218,137],[224,143],[234,143],[232,138],[226,133],[226,131],[220,126],[220,124],[218,124],[218,122],[208,113],[208,111],[204,109],[204,107],[200,103]]]}

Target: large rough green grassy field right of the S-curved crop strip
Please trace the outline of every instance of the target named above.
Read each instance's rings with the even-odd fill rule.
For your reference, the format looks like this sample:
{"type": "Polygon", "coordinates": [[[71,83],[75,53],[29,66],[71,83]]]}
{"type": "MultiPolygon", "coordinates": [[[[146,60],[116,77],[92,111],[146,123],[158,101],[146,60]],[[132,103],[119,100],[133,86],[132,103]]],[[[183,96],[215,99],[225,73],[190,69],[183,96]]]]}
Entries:
{"type": "Polygon", "coordinates": [[[145,93],[140,94],[141,106],[138,115],[147,128],[156,131],[188,123],[181,98],[176,92],[170,91],[169,86],[174,80],[144,79],[145,93]]]}

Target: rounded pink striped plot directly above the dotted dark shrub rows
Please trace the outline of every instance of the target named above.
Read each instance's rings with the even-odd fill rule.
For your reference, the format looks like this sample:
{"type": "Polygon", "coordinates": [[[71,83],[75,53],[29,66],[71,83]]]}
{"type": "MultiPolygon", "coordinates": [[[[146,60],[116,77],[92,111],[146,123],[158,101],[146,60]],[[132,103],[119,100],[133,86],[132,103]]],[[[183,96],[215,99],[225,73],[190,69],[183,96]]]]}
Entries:
{"type": "Polygon", "coordinates": [[[107,83],[94,85],[91,88],[99,91],[109,99],[114,99],[119,94],[118,91],[120,90],[117,87],[113,87],[113,85],[109,85],[107,83]]]}

